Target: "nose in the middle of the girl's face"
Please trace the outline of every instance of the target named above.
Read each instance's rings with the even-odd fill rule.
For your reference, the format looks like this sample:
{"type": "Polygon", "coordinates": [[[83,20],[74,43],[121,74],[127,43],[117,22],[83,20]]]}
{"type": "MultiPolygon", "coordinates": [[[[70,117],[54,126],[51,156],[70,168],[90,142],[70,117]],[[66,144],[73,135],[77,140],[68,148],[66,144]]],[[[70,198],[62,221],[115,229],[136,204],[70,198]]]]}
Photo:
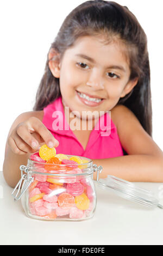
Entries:
{"type": "Polygon", "coordinates": [[[101,75],[99,72],[92,72],[89,80],[86,83],[87,86],[91,86],[92,88],[97,89],[104,89],[104,83],[101,75]]]}

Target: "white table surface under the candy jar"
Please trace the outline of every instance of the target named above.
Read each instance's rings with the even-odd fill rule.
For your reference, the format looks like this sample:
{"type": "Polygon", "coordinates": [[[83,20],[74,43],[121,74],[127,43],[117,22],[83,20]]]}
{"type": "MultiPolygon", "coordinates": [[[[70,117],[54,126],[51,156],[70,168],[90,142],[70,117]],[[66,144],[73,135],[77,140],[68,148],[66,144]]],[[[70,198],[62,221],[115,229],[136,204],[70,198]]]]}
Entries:
{"type": "MultiPolygon", "coordinates": [[[[163,205],[163,184],[135,183],[163,205]],[[161,192],[162,191],[162,192],[161,192]]],[[[90,220],[40,221],[14,202],[0,172],[0,245],[163,245],[163,210],[130,202],[96,185],[97,208],[90,220]]]]}

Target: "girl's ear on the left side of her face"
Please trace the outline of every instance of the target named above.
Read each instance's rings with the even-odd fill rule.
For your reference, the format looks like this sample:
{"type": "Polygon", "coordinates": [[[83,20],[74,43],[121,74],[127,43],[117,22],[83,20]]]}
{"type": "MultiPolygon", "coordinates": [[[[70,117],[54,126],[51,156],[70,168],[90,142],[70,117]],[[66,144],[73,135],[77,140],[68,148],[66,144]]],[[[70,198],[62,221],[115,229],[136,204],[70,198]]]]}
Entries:
{"type": "Polygon", "coordinates": [[[60,77],[60,54],[51,48],[48,53],[48,65],[54,77],[60,77]]]}

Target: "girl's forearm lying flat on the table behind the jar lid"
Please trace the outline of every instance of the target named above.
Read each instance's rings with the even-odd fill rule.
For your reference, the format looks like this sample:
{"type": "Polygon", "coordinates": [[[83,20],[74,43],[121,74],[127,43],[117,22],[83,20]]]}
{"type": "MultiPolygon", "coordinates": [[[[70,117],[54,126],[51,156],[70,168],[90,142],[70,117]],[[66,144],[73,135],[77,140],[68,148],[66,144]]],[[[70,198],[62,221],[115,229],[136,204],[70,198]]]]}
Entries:
{"type": "MultiPolygon", "coordinates": [[[[114,175],[131,182],[163,182],[163,159],[153,155],[127,155],[110,159],[95,159],[102,166],[99,178],[114,175]]],[[[96,173],[93,179],[96,179],[96,173]]]]}

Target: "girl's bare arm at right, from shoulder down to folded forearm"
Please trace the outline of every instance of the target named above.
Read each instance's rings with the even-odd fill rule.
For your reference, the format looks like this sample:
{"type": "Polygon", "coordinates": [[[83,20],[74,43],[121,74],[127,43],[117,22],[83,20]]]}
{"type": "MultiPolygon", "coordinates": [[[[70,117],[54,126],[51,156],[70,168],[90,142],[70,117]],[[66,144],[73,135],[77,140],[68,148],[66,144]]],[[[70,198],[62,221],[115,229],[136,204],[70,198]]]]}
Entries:
{"type": "MultiPolygon", "coordinates": [[[[115,119],[118,136],[128,155],[93,160],[97,166],[103,166],[99,178],[115,175],[131,182],[163,182],[163,153],[133,112],[118,105],[112,109],[111,117],[115,119]]],[[[96,179],[96,173],[93,178],[96,179]]]]}

